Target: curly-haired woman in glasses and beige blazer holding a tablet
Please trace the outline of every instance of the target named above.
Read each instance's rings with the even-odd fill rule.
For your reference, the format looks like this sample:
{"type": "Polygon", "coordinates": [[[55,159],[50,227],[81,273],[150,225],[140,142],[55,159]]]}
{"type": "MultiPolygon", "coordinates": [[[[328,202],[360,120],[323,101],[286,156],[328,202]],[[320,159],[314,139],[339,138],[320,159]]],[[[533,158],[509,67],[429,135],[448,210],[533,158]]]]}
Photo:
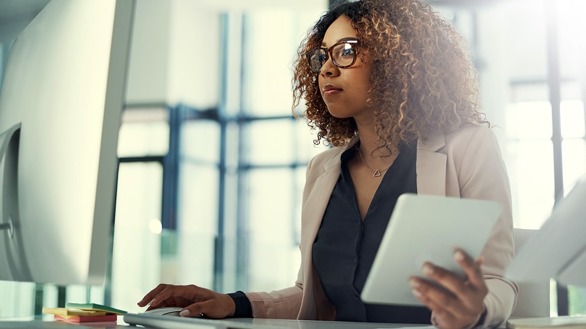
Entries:
{"type": "MultiPolygon", "coordinates": [[[[326,13],[300,47],[294,107],[335,146],[308,165],[302,206],[301,269],[295,286],[220,294],[159,285],[138,305],[185,307],[182,316],[496,326],[517,286],[502,277],[513,257],[509,182],[496,139],[478,112],[462,39],[430,6],[363,0],[326,13]],[[496,200],[503,214],[478,260],[456,251],[466,272],[425,263],[409,284],[427,308],[359,299],[397,197],[403,193],[496,200]],[[347,244],[346,241],[357,241],[347,244]]],[[[489,124],[488,124],[489,125],[489,124]]],[[[417,237],[414,237],[416,241],[417,237]]]]}

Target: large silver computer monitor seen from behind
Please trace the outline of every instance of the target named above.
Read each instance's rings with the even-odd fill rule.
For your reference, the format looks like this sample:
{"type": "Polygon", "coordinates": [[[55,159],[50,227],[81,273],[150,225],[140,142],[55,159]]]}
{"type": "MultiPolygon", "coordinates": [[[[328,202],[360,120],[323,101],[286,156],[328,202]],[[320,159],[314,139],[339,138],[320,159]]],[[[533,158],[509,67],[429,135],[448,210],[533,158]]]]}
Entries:
{"type": "Polygon", "coordinates": [[[134,0],[53,0],[0,94],[0,280],[101,285],[134,0]]]}

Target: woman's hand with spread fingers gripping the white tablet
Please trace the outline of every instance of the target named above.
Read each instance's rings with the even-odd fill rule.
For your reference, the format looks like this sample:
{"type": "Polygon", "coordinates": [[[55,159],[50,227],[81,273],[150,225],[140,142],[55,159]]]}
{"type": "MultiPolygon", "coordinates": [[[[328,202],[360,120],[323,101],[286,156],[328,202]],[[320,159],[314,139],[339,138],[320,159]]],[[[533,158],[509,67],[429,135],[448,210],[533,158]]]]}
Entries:
{"type": "Polygon", "coordinates": [[[482,259],[474,261],[459,249],[454,253],[454,259],[464,269],[466,279],[462,280],[430,262],[423,265],[423,274],[447,291],[419,277],[409,280],[413,294],[433,312],[432,323],[441,329],[461,329],[476,324],[485,310],[484,297],[488,288],[480,269],[482,259]]]}

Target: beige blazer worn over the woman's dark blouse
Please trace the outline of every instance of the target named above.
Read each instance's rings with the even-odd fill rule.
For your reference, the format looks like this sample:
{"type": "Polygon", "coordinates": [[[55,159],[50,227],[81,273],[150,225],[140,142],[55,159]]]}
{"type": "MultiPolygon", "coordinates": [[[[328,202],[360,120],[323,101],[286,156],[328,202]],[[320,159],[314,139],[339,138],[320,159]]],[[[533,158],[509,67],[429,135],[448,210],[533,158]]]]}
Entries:
{"type": "MultiPolygon", "coordinates": [[[[309,162],[301,212],[301,268],[295,286],[273,292],[246,293],[253,316],[333,320],[312,261],[312,245],[326,205],[340,175],[340,155],[349,145],[322,152],[309,162]]],[[[503,272],[513,259],[513,224],[509,178],[498,142],[490,129],[468,125],[454,133],[435,133],[418,140],[417,193],[495,200],[503,205],[500,220],[482,251],[482,272],[489,293],[485,325],[502,324],[515,307],[518,287],[503,272]]],[[[407,282],[405,283],[407,285],[407,282]]]]}

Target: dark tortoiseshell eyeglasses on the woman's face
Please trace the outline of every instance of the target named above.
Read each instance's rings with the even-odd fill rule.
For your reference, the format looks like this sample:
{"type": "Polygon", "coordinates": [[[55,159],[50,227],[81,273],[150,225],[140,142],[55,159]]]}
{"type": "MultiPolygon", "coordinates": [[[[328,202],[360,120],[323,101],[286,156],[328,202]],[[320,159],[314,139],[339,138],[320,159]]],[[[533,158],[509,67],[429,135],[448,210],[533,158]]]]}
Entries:
{"type": "Polygon", "coordinates": [[[319,73],[323,64],[328,61],[328,53],[332,62],[340,68],[350,67],[356,61],[356,44],[358,40],[345,40],[334,44],[329,48],[315,47],[305,53],[309,61],[309,67],[314,73],[319,73]]]}

